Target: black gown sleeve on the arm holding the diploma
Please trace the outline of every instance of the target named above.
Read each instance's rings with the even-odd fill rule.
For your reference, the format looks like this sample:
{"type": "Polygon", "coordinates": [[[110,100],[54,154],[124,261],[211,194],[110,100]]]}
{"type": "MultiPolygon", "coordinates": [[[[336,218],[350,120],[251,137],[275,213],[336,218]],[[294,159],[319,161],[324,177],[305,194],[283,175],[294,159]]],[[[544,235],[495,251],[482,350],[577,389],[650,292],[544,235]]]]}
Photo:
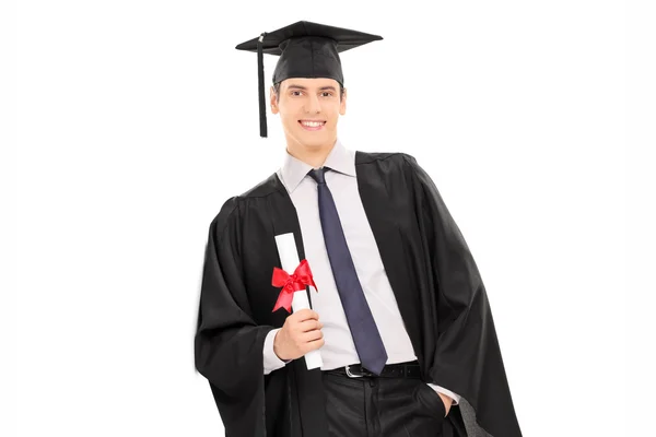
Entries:
{"type": "Polygon", "coordinates": [[[265,436],[262,347],[271,326],[253,319],[241,267],[238,197],[210,224],[202,272],[195,364],[212,390],[226,437],[265,436]]]}

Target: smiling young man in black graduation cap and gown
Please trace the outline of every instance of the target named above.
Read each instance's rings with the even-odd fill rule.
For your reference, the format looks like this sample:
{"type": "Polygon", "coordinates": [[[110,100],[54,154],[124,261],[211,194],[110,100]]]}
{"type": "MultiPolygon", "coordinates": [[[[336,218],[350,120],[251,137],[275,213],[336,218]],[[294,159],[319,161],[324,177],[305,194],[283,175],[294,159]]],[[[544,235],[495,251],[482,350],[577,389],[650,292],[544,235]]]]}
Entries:
{"type": "Polygon", "coordinates": [[[262,137],[262,54],[280,56],[286,151],[210,225],[196,366],[229,437],[522,435],[485,288],[435,185],[408,154],[338,139],[338,52],[376,39],[298,22],[237,46],[258,52],[262,137]],[[318,290],[291,315],[272,311],[288,233],[318,290]]]}

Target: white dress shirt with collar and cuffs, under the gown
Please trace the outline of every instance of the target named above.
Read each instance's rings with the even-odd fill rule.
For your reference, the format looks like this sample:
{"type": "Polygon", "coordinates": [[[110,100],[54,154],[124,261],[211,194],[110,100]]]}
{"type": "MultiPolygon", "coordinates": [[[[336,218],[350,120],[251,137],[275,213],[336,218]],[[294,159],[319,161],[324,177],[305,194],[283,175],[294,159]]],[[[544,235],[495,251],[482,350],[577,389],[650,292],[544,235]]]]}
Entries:
{"type": "MultiPolygon", "coordinates": [[[[331,169],[325,174],[326,184],[332,193],[358,277],[385,344],[387,364],[414,361],[417,355],[360,199],[355,175],[355,151],[345,149],[338,139],[324,166],[331,169]]],[[[278,169],[277,175],[296,209],[305,258],[319,291],[314,293],[313,288],[312,306],[324,323],[321,332],[325,343],[320,349],[324,362],[321,370],[329,370],[360,363],[360,357],[332,276],[319,218],[317,182],[307,175],[312,169],[313,166],[290,155],[285,150],[283,165],[278,169]]],[[[273,352],[273,339],[278,331],[279,329],[274,329],[269,332],[265,341],[265,375],[285,365],[285,362],[273,352]]],[[[430,386],[452,398],[454,404],[459,402],[460,398],[456,393],[436,385],[430,386]]]]}

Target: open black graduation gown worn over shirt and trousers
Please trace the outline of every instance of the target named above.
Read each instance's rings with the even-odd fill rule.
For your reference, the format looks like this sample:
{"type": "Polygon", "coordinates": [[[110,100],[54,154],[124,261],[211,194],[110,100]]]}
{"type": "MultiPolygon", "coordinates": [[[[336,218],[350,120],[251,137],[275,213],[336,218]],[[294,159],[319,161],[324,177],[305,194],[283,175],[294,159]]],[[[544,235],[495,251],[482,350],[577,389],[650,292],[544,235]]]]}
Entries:
{"type": "MultiPolygon", "coordinates": [[[[426,382],[458,393],[468,436],[522,435],[485,287],[437,188],[406,153],[355,151],[358,187],[426,382]]],[[[196,367],[209,381],[226,437],[326,437],[321,370],[303,358],[263,375],[281,268],[274,236],[293,233],[295,208],[276,174],[223,204],[210,224],[196,367]]],[[[312,268],[312,265],[311,265],[312,268]]],[[[306,290],[309,298],[312,295],[306,290]]]]}

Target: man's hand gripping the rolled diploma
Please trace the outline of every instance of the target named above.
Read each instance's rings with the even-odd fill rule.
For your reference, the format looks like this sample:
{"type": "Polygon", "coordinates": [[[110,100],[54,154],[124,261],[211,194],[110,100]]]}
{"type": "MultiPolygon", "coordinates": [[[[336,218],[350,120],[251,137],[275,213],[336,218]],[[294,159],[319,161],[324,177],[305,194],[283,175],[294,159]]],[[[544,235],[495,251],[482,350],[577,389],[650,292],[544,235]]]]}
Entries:
{"type": "Polygon", "coordinates": [[[282,329],[276,333],[273,352],[283,362],[296,359],[324,345],[324,324],[312,309],[302,309],[288,316],[282,329]]]}

